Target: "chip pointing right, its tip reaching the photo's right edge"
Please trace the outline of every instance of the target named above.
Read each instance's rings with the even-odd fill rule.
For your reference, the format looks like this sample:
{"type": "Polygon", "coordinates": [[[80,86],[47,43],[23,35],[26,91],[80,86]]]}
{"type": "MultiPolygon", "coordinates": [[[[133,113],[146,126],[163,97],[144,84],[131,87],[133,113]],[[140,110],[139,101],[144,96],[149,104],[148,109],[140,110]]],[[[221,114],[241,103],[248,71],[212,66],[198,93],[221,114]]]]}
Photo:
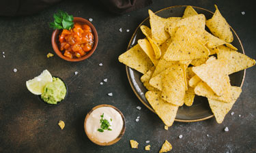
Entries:
{"type": "Polygon", "coordinates": [[[254,59],[249,58],[240,52],[236,52],[236,50],[232,50],[225,46],[218,46],[218,49],[220,50],[217,54],[218,58],[227,61],[228,74],[235,73],[255,65],[254,59]]]}

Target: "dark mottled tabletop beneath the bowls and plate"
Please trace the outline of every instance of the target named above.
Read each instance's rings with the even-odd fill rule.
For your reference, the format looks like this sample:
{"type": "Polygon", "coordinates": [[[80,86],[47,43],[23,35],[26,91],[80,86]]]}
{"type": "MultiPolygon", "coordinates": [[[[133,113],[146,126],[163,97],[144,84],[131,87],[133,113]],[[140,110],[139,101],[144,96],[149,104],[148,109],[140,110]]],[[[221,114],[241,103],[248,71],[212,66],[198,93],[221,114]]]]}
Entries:
{"type": "Polygon", "coordinates": [[[148,9],[156,12],[172,5],[195,5],[214,12],[214,3],[240,37],[246,54],[256,58],[254,1],[154,0],[152,5],[122,16],[107,12],[97,3],[63,1],[33,16],[0,17],[0,152],[146,152],[147,140],[152,145],[150,152],[158,152],[165,139],[173,145],[171,152],[256,152],[255,67],[246,70],[242,94],[231,109],[235,114],[227,114],[222,124],[217,124],[214,118],[174,122],[169,131],[165,131],[158,116],[134,95],[125,66],[117,60],[126,50],[133,31],[148,16],[148,9]],[[48,22],[53,20],[57,9],[93,18],[99,44],[89,59],[70,63],[57,55],[46,58],[48,52],[53,53],[53,30],[48,22]],[[99,67],[99,63],[103,66],[99,67]],[[14,68],[18,69],[16,73],[14,68]],[[27,80],[44,69],[68,84],[69,95],[58,105],[42,103],[25,86],[27,80]],[[78,75],[74,75],[74,71],[78,71],[78,75]],[[104,78],[108,78],[108,82],[101,86],[104,78]],[[113,92],[113,97],[107,96],[109,92],[113,92]],[[126,133],[113,146],[96,146],[83,130],[89,109],[103,103],[115,105],[126,117],[126,133]],[[136,109],[138,105],[141,111],[136,109]],[[139,122],[135,122],[137,116],[141,116],[139,122]],[[63,131],[57,125],[59,120],[66,123],[63,131]],[[225,126],[229,132],[223,131],[225,126]],[[183,138],[179,139],[179,135],[183,138]],[[130,148],[130,139],[139,142],[139,149],[130,148]]]}

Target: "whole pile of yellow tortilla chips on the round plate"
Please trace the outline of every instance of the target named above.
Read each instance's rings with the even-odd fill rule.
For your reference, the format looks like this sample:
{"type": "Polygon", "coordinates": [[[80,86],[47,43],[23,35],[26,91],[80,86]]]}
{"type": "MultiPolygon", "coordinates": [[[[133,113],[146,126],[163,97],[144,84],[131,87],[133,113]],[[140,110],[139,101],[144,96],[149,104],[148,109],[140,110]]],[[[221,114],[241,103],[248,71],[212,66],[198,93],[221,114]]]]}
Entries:
{"type": "Polygon", "coordinates": [[[149,14],[151,29],[141,26],[145,39],[119,61],[143,73],[145,97],[167,126],[180,106],[193,105],[195,95],[207,97],[216,121],[223,122],[242,92],[231,86],[229,74],[252,67],[255,60],[230,44],[233,35],[218,7],[209,20],[191,6],[182,18],[149,14]]]}

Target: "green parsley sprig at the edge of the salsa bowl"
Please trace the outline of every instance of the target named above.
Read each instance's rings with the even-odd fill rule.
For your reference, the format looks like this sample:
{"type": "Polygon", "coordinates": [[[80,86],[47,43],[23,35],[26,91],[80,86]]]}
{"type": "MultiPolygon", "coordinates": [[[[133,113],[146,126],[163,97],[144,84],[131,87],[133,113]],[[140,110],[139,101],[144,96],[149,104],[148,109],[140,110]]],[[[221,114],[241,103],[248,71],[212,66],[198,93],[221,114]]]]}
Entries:
{"type": "Polygon", "coordinates": [[[50,23],[50,27],[53,29],[72,29],[74,27],[74,18],[72,15],[68,15],[67,12],[59,10],[57,14],[53,15],[54,22],[50,23]]]}

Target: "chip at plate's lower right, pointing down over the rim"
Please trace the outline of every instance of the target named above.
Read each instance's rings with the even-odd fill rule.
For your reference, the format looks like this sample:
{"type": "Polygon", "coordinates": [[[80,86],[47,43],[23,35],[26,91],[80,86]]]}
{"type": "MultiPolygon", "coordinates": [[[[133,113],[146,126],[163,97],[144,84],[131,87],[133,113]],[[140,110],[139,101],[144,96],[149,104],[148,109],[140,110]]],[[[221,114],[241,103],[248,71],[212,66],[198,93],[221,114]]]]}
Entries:
{"type": "Polygon", "coordinates": [[[240,96],[242,89],[237,86],[231,87],[231,102],[223,103],[222,101],[217,101],[214,99],[208,99],[212,113],[214,114],[216,121],[220,124],[223,122],[226,114],[232,108],[233,104],[236,102],[236,99],[240,96]]]}

